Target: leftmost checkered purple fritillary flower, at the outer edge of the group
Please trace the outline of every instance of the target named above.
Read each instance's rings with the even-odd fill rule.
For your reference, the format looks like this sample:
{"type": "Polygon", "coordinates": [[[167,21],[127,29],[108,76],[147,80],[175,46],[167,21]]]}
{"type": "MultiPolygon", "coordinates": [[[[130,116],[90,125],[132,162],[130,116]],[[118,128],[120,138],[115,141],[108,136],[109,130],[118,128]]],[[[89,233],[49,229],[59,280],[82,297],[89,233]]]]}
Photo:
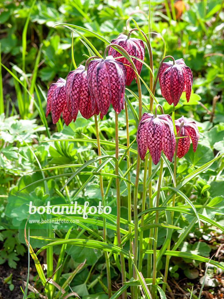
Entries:
{"type": "Polygon", "coordinates": [[[66,81],[62,78],[51,84],[47,91],[46,117],[50,111],[54,124],[58,122],[61,114],[66,126],[72,121],[72,115],[66,103],[66,81]]]}

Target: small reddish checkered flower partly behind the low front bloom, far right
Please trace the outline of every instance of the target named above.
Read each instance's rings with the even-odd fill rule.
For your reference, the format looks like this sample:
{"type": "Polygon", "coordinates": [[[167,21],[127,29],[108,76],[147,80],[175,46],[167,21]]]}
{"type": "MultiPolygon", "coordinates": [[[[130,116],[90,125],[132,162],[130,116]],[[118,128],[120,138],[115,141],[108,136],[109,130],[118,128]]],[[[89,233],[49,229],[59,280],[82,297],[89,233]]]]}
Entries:
{"type": "Polygon", "coordinates": [[[177,146],[177,157],[182,158],[188,152],[190,148],[190,137],[193,145],[193,151],[196,152],[197,144],[199,140],[199,131],[196,123],[194,121],[188,121],[185,117],[181,117],[175,120],[175,127],[177,130],[177,135],[179,133],[181,122],[183,122],[180,137],[186,136],[185,138],[180,138],[177,146]]]}

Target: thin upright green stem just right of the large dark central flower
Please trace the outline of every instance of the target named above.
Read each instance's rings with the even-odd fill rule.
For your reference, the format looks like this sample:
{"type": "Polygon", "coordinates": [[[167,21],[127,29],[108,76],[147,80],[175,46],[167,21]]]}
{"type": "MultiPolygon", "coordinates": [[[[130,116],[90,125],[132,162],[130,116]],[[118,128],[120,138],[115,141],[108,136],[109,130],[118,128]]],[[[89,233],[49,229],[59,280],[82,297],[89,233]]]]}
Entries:
{"type": "MultiPolygon", "coordinates": [[[[130,146],[130,138],[129,138],[129,126],[128,126],[128,107],[127,107],[127,103],[125,102],[125,117],[126,117],[126,132],[127,132],[127,148],[130,146]]],[[[127,169],[130,168],[130,151],[128,149],[127,153],[127,169]]],[[[131,181],[131,173],[130,171],[128,172],[128,180],[131,181]]],[[[128,184],[128,222],[131,223],[131,185],[128,184]]],[[[128,231],[129,234],[131,234],[131,226],[128,226],[128,231]]],[[[130,239],[130,252],[132,253],[132,246],[131,246],[131,242],[133,241],[133,239],[130,239]]],[[[130,277],[133,277],[133,268],[132,268],[132,263],[131,263],[131,259],[128,259],[128,271],[129,271],[129,275],[130,277]]],[[[134,295],[134,287],[131,286],[131,299],[133,299],[133,295],[134,295]]]]}

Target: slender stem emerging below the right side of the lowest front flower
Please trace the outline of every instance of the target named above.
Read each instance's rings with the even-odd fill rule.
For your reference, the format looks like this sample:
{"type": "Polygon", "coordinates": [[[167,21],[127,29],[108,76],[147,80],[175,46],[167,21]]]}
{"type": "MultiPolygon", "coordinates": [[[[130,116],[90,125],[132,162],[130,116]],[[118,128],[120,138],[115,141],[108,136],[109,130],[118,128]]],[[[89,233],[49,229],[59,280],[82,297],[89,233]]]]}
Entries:
{"type": "MultiPolygon", "coordinates": [[[[162,169],[163,169],[163,159],[161,158],[160,171],[159,171],[159,181],[158,181],[158,190],[157,190],[157,198],[156,198],[156,208],[159,207],[159,195],[162,181],[162,169]]],[[[155,223],[159,223],[159,211],[156,211],[156,219],[155,223]]],[[[156,249],[157,249],[157,238],[158,238],[158,228],[155,228],[154,233],[154,245],[153,245],[153,275],[152,275],[152,298],[156,298],[156,288],[153,287],[156,284],[156,249]]]]}

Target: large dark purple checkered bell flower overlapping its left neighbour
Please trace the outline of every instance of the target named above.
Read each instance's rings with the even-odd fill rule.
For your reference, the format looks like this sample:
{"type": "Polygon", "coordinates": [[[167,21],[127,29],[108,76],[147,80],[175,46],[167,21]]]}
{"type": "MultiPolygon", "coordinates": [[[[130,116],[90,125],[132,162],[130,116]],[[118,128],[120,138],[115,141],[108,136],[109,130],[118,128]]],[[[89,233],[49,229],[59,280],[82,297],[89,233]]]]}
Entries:
{"type": "Polygon", "coordinates": [[[117,114],[124,109],[126,71],[123,63],[113,56],[106,59],[96,59],[89,62],[87,80],[92,100],[92,107],[106,115],[110,104],[117,114]]]}

